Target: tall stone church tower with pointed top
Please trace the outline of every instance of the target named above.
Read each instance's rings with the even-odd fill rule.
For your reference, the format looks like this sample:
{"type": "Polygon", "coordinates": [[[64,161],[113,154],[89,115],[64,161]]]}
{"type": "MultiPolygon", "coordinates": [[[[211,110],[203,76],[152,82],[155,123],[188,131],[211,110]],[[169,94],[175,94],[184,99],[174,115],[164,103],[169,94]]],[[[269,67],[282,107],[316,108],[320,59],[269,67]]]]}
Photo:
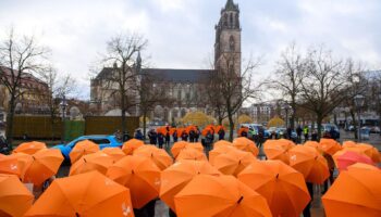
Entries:
{"type": "Polygon", "coordinates": [[[226,58],[233,60],[234,72],[241,76],[241,25],[239,8],[233,0],[228,0],[221,10],[221,17],[216,25],[214,69],[226,67],[226,58]]]}

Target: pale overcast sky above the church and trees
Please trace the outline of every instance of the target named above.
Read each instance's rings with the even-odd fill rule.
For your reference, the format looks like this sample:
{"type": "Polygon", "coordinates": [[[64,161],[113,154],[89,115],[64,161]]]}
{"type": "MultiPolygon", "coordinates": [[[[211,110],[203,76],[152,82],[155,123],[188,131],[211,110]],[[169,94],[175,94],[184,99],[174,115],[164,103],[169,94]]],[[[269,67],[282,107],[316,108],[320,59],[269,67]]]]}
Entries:
{"type": "MultiPolygon", "coordinates": [[[[61,73],[89,95],[89,68],[106,42],[137,31],[155,67],[205,68],[214,25],[226,0],[0,0],[0,36],[14,26],[52,50],[61,73]]],[[[263,56],[262,75],[291,42],[325,44],[340,58],[381,68],[380,0],[235,0],[241,9],[244,58],[263,56]]]]}

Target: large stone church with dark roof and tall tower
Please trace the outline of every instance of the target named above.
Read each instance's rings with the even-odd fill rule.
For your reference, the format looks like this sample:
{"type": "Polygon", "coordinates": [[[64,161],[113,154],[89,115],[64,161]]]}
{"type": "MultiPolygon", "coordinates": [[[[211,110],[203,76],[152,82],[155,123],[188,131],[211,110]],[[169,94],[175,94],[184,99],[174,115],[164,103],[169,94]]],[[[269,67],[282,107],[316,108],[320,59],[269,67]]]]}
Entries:
{"type": "MultiPolygon", "coordinates": [[[[214,69],[223,67],[222,62],[225,54],[234,54],[237,59],[234,61],[234,72],[241,75],[239,8],[233,0],[228,0],[224,8],[221,9],[221,16],[214,30],[214,69]]],[[[145,74],[160,77],[161,80],[158,82],[165,82],[172,99],[169,103],[156,105],[148,118],[176,123],[188,112],[201,111],[213,115],[212,107],[205,100],[204,91],[207,91],[206,84],[214,69],[142,68],[145,74]]],[[[111,71],[111,67],[105,67],[96,78],[91,79],[91,103],[96,102],[102,115],[112,115],[111,111],[118,111],[115,99],[110,98],[110,95],[105,97],[102,93],[107,90],[103,90],[99,85],[102,79],[107,79],[105,75],[111,71]]],[[[128,110],[128,114],[140,116],[137,107],[128,110]]]]}

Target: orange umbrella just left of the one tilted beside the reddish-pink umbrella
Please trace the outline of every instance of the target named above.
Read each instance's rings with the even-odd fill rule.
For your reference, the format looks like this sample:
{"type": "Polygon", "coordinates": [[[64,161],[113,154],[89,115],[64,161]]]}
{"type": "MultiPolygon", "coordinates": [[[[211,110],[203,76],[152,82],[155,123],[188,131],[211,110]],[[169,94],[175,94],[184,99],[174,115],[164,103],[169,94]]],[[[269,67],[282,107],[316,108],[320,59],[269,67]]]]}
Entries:
{"type": "Polygon", "coordinates": [[[290,144],[283,140],[266,140],[263,144],[263,152],[269,159],[280,159],[288,164],[288,149],[290,144]]]}

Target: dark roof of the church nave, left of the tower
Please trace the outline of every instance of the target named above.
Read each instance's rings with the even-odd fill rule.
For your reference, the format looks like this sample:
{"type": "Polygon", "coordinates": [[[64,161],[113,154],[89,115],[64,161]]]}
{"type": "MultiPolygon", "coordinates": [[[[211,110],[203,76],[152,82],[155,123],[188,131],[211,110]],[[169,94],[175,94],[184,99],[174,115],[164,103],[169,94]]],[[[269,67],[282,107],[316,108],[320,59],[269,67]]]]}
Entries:
{"type": "Polygon", "coordinates": [[[211,69],[145,68],[144,74],[158,77],[162,81],[200,82],[210,78],[211,69]]]}

